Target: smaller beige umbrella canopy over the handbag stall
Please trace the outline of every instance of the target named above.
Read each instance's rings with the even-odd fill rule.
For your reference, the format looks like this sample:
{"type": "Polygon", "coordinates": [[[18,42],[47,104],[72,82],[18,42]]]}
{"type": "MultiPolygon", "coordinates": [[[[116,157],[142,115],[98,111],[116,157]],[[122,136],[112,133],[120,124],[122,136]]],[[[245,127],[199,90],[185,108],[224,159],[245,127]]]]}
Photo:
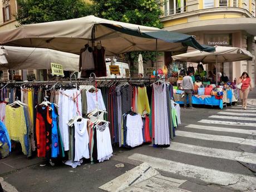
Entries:
{"type": "Polygon", "coordinates": [[[172,56],[173,60],[194,63],[219,63],[252,60],[253,55],[247,50],[238,47],[215,46],[214,52],[192,51],[172,56]]]}

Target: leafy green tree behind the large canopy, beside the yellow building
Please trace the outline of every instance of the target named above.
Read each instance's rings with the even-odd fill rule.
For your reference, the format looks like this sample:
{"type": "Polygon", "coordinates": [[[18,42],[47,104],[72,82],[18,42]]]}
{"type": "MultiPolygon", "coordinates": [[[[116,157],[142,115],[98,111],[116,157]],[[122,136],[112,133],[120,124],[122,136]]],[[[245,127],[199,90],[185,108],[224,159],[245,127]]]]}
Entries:
{"type": "MultiPolygon", "coordinates": [[[[163,28],[160,16],[163,12],[160,6],[163,2],[156,0],[92,0],[94,3],[92,13],[101,18],[126,23],[141,24],[149,27],[163,28]]],[[[144,61],[155,60],[155,52],[136,51],[125,54],[130,61],[131,68],[137,60],[139,53],[144,61]]]]}

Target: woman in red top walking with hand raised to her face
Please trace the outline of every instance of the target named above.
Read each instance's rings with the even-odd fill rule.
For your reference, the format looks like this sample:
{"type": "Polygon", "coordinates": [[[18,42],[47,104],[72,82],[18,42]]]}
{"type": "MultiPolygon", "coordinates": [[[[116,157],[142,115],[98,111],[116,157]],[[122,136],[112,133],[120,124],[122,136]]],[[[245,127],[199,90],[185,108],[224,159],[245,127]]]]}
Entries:
{"type": "Polygon", "coordinates": [[[239,91],[240,99],[243,100],[243,107],[246,110],[247,97],[248,97],[249,91],[252,91],[252,84],[251,84],[250,77],[247,72],[242,73],[242,76],[238,80],[238,84],[239,83],[242,83],[242,87],[239,91]]]}

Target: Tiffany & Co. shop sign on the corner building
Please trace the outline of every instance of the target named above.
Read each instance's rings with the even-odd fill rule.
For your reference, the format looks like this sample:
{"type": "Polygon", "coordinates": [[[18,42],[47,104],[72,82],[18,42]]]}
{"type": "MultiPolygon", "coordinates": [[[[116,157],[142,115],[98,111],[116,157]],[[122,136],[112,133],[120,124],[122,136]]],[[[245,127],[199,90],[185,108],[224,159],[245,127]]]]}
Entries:
{"type": "Polygon", "coordinates": [[[232,46],[232,34],[205,34],[204,44],[210,46],[232,46]]]}

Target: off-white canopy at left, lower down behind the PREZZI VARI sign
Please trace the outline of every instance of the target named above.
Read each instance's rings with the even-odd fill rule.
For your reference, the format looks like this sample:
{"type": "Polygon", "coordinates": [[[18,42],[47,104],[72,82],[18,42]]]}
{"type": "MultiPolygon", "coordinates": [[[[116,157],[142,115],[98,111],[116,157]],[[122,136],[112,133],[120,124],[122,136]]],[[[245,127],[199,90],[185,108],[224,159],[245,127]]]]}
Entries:
{"type": "Polygon", "coordinates": [[[0,70],[49,70],[53,62],[62,64],[65,71],[77,71],[79,64],[78,55],[47,48],[2,46],[0,56],[5,56],[8,62],[0,60],[0,70]]]}

